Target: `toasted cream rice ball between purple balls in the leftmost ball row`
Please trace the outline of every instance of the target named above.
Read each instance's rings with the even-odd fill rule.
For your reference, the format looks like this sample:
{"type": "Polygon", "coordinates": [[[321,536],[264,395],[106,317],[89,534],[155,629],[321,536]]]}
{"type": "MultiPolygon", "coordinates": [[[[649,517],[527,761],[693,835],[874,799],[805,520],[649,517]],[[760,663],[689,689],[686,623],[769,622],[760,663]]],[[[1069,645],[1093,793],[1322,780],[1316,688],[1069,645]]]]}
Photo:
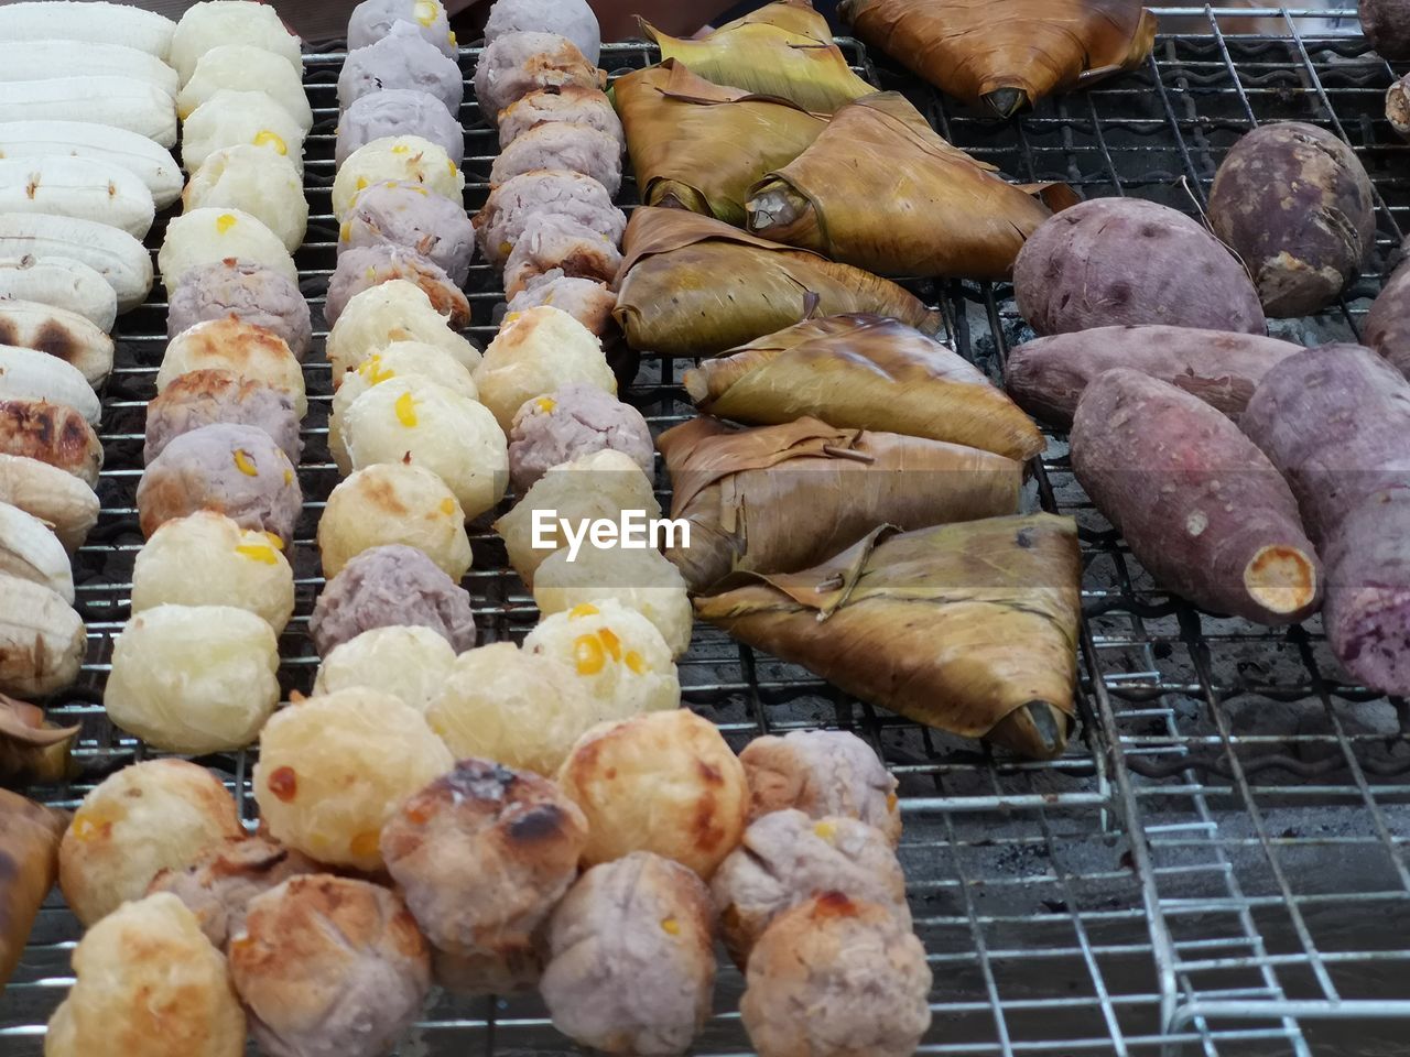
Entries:
{"type": "Polygon", "coordinates": [[[309,413],[303,368],[272,330],[228,317],[183,330],[166,342],[157,371],[157,392],[164,393],[168,385],[192,371],[230,371],[241,381],[289,393],[300,419],[309,413]]]}

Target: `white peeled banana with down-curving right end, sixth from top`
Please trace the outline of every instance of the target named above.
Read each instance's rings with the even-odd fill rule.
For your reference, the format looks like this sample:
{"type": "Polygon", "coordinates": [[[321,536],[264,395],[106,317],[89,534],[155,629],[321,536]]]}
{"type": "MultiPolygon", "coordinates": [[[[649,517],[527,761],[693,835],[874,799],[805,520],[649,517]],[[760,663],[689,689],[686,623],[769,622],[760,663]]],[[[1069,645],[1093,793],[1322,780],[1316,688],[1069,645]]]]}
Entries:
{"type": "MultiPolygon", "coordinates": [[[[152,290],[152,258],[125,231],[73,217],[0,213],[0,256],[70,256],[107,279],[117,310],[135,309],[152,290]]],[[[42,299],[31,299],[42,300],[42,299]]]]}

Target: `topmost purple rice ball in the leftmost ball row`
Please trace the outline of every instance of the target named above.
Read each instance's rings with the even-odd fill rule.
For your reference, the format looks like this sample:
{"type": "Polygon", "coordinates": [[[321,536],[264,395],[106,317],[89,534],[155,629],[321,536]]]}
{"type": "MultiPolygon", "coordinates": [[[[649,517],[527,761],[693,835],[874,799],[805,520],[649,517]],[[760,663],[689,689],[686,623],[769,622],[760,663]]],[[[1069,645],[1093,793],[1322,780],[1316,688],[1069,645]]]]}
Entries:
{"type": "Polygon", "coordinates": [[[298,285],[272,268],[235,259],[186,272],[166,306],[166,337],[227,316],[272,330],[300,362],[309,351],[313,324],[298,285]]]}

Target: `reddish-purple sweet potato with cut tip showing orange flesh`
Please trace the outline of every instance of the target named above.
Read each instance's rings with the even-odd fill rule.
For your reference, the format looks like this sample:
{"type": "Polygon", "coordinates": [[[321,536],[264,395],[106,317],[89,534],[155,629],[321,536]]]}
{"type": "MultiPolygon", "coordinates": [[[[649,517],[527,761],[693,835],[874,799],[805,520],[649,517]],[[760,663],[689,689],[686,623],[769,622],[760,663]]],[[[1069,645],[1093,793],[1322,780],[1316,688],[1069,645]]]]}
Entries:
{"type": "Polygon", "coordinates": [[[1131,552],[1215,613],[1289,624],[1321,565],[1287,483],[1238,426],[1139,371],[1107,371],[1077,403],[1072,468],[1131,552]]]}

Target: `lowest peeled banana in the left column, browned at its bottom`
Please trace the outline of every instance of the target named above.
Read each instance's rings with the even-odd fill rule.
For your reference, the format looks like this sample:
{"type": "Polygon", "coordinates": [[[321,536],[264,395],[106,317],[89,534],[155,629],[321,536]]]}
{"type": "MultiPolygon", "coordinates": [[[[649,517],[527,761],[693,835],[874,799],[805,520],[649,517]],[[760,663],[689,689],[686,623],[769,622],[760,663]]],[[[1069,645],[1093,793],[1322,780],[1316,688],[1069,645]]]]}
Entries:
{"type": "Polygon", "coordinates": [[[58,693],[79,678],[86,653],[83,619],[58,592],[0,575],[0,693],[58,693]]]}

